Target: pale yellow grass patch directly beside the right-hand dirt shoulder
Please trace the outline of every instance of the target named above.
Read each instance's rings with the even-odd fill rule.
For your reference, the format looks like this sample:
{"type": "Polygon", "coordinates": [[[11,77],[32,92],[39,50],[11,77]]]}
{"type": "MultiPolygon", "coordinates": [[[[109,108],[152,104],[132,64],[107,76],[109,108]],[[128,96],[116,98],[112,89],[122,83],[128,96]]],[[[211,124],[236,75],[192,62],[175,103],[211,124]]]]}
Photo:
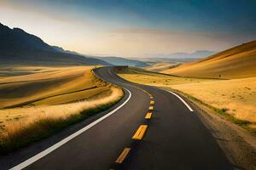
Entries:
{"type": "Polygon", "coordinates": [[[171,88],[194,96],[237,119],[256,122],[256,77],[173,85],[171,88]]]}

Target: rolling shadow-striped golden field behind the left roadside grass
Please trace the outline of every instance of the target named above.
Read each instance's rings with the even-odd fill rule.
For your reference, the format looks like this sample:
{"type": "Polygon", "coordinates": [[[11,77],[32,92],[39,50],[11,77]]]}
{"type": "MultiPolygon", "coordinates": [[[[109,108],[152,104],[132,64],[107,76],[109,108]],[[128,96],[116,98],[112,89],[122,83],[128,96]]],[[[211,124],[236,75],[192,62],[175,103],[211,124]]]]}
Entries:
{"type": "MultiPolygon", "coordinates": [[[[38,68],[36,73],[0,79],[0,108],[57,105],[87,99],[105,88],[90,72],[91,66],[38,68]],[[101,88],[99,88],[101,87],[101,88]],[[96,88],[84,90],[88,88],[96,88]]],[[[22,68],[31,71],[32,68],[22,68]]],[[[34,70],[36,68],[33,68],[34,70]]],[[[19,68],[21,70],[21,68],[19,68]]]]}

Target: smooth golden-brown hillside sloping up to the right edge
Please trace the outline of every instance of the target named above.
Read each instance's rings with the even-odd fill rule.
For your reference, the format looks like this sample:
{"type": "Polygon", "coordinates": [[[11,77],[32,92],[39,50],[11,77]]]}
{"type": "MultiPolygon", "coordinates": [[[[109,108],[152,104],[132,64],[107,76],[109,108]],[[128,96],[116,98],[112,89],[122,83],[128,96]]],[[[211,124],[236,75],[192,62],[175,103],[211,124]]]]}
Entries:
{"type": "Polygon", "coordinates": [[[189,77],[256,77],[255,65],[256,41],[253,41],[163,72],[189,77]]]}

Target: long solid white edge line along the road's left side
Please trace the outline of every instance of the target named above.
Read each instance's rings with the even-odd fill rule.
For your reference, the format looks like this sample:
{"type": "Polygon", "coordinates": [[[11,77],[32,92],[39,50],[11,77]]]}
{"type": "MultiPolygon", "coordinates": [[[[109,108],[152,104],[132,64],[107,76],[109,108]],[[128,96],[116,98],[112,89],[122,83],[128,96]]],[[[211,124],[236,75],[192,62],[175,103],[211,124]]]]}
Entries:
{"type": "Polygon", "coordinates": [[[131,92],[126,88],[124,88],[124,89],[128,91],[129,97],[128,97],[128,99],[125,100],[125,102],[122,105],[119,105],[119,107],[115,108],[113,111],[110,111],[108,114],[100,117],[95,122],[91,122],[86,127],[83,127],[79,131],[69,135],[67,138],[62,139],[60,142],[50,146],[48,149],[38,153],[35,156],[32,156],[31,158],[27,159],[26,161],[21,162],[20,164],[16,165],[15,167],[12,167],[10,170],[20,170],[20,169],[23,169],[23,168],[31,165],[33,162],[38,161],[42,157],[47,156],[50,152],[58,149],[59,147],[61,147],[61,145],[66,144],[71,139],[74,139],[75,137],[79,136],[79,134],[84,133],[86,130],[90,129],[90,127],[95,126],[98,122],[101,122],[102,120],[106,119],[108,116],[111,116],[114,112],[118,111],[121,107],[123,107],[131,99],[131,92]]]}

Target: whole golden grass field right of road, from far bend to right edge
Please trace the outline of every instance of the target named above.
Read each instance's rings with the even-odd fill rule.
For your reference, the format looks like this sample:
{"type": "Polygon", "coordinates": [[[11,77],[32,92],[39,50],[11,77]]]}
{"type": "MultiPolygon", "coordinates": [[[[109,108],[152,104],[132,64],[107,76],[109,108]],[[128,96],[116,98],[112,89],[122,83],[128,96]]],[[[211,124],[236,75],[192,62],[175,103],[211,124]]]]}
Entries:
{"type": "Polygon", "coordinates": [[[219,110],[227,110],[230,116],[252,122],[250,127],[256,128],[256,77],[231,80],[175,77],[132,68],[119,72],[119,76],[131,82],[179,90],[219,110]]]}

